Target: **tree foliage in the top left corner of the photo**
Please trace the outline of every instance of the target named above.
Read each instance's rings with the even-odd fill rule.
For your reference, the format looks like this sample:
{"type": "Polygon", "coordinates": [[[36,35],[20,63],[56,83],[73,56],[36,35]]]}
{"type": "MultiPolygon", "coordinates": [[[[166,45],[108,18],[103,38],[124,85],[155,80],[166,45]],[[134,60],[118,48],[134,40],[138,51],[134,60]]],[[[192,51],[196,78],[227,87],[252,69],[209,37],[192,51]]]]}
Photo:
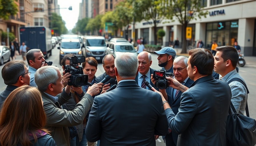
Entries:
{"type": "Polygon", "coordinates": [[[0,18],[7,20],[9,16],[14,16],[17,12],[18,6],[13,0],[0,0],[0,18]]]}

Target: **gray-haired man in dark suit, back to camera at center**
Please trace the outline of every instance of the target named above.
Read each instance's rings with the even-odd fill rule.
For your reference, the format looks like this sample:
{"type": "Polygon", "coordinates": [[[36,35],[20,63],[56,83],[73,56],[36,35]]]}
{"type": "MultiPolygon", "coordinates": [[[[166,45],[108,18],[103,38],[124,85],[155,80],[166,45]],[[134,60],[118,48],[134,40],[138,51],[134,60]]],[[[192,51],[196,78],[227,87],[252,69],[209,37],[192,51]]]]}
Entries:
{"type": "Polygon", "coordinates": [[[86,126],[90,142],[101,145],[155,145],[154,135],[167,133],[161,96],[135,82],[137,57],[126,52],[115,58],[117,88],[96,96],[86,126]]]}

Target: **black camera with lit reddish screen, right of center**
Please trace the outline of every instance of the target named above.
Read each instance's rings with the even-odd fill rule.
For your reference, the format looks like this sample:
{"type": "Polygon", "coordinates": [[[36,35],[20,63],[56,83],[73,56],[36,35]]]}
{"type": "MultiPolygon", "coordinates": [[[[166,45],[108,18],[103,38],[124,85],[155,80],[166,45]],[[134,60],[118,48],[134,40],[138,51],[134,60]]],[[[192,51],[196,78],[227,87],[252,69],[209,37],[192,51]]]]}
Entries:
{"type": "Polygon", "coordinates": [[[174,76],[173,73],[166,72],[166,70],[154,70],[153,78],[155,79],[155,86],[159,89],[167,89],[169,87],[166,76],[174,76]]]}

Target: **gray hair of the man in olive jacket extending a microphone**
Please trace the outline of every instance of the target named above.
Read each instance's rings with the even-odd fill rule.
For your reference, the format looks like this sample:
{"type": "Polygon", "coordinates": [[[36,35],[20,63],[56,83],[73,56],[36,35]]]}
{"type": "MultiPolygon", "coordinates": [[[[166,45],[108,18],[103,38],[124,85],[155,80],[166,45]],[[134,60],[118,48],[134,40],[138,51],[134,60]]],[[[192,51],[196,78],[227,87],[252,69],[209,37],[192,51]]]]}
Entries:
{"type": "Polygon", "coordinates": [[[46,91],[49,84],[56,84],[59,68],[56,66],[43,66],[35,72],[35,84],[40,91],[46,91]]]}

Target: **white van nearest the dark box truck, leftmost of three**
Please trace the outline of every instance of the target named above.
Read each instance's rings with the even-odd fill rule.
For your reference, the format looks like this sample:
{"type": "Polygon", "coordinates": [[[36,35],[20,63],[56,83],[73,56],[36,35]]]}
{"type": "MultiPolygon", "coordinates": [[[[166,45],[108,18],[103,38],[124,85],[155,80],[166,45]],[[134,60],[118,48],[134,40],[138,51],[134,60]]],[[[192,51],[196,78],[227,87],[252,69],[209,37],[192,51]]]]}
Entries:
{"type": "Polygon", "coordinates": [[[66,54],[75,54],[76,56],[85,56],[85,46],[80,44],[80,40],[77,39],[62,39],[60,49],[59,62],[66,54]]]}

